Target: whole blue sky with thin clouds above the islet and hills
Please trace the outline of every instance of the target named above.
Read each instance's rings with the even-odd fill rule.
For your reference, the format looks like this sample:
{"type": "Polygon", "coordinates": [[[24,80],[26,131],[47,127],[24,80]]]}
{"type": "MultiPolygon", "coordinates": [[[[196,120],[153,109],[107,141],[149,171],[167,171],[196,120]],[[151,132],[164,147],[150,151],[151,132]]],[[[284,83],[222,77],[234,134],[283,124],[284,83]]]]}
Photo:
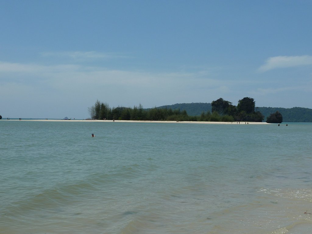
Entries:
{"type": "Polygon", "coordinates": [[[312,108],[312,1],[0,0],[0,115],[97,100],[312,108]]]}

